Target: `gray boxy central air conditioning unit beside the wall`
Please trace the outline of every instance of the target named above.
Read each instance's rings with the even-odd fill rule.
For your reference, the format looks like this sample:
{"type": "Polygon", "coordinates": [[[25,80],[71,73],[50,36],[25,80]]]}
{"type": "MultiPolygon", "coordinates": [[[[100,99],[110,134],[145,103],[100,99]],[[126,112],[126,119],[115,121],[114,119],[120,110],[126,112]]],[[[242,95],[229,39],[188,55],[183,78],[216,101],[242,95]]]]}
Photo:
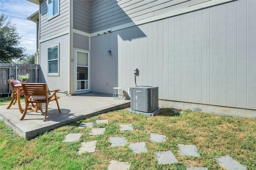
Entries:
{"type": "Polygon", "coordinates": [[[150,113],[158,109],[158,87],[136,86],[131,88],[131,110],[150,113]]]}

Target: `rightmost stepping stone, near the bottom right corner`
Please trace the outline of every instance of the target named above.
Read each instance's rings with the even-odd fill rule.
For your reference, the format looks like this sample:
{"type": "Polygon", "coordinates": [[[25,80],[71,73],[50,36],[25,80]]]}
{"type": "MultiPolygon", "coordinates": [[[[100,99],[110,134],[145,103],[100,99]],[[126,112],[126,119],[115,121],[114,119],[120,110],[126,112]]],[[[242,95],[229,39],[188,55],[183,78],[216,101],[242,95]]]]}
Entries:
{"type": "Polygon", "coordinates": [[[225,168],[226,170],[247,170],[245,166],[238,163],[229,155],[220,156],[219,158],[216,158],[216,160],[218,160],[218,164],[225,168]]]}

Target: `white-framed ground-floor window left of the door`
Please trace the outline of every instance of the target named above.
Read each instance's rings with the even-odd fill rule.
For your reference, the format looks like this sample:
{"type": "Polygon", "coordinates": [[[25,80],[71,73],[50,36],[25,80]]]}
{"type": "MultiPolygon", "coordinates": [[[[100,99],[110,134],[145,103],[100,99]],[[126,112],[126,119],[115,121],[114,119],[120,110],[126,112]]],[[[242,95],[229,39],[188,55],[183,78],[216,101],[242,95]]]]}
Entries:
{"type": "Polygon", "coordinates": [[[48,76],[59,76],[59,44],[47,47],[48,76]]]}

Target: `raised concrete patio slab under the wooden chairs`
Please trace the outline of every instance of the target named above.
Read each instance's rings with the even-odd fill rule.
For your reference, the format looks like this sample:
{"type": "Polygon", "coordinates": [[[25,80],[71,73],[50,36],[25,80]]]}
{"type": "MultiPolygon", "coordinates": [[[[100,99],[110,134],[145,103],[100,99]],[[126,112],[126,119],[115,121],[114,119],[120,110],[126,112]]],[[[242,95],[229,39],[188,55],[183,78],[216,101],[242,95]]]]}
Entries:
{"type": "MultiPolygon", "coordinates": [[[[61,113],[58,112],[56,102],[50,102],[46,121],[43,121],[44,111],[28,111],[24,120],[18,104],[0,106],[0,119],[12,127],[20,136],[31,139],[46,131],[85,119],[86,117],[107,113],[108,111],[130,107],[130,100],[114,100],[111,94],[86,93],[74,96],[60,97],[58,100],[61,113]]],[[[22,108],[25,104],[22,103],[22,108]]]]}

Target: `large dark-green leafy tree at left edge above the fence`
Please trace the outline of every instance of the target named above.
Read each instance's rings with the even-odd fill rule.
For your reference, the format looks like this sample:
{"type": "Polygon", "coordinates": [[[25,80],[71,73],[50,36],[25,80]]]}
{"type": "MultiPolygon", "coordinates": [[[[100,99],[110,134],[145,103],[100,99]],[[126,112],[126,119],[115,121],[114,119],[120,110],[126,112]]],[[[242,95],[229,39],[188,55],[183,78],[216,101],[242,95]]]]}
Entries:
{"type": "Polygon", "coordinates": [[[0,63],[11,63],[12,60],[23,59],[26,50],[20,45],[21,37],[15,24],[4,15],[0,15],[0,63]]]}

